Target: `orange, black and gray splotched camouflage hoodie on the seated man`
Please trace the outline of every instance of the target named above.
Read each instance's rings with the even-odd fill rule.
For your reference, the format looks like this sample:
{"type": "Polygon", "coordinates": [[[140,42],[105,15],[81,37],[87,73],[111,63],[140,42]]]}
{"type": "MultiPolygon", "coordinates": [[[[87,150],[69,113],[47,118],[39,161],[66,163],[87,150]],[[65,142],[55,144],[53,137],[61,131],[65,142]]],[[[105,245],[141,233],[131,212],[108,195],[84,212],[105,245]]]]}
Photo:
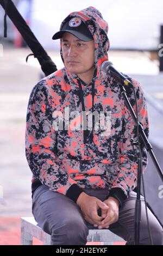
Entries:
{"type": "MultiPolygon", "coordinates": [[[[71,13],[61,27],[70,17],[82,19],[93,36],[95,74],[91,83],[85,84],[76,74],[62,68],[43,78],[33,88],[26,127],[26,157],[33,173],[32,188],[34,191],[44,184],[49,190],[65,194],[76,202],[83,188],[107,187],[108,196],[115,197],[122,204],[137,182],[137,160],[130,144],[131,138],[136,140],[136,126],[124,105],[115,78],[101,70],[101,64],[108,60],[108,24],[93,7],[71,13]],[[67,107],[71,113],[71,125],[65,129],[65,115],[61,113],[67,107]],[[82,111],[87,114],[93,111],[104,113],[105,118],[108,115],[106,129],[101,126],[96,129],[98,122],[95,118],[92,118],[92,129],[73,129],[79,124],[82,111]],[[57,130],[54,126],[56,113],[64,129],[57,130]]],[[[126,88],[127,95],[135,110],[135,90],[139,121],[148,136],[147,107],[142,87],[134,79],[129,79],[134,87],[126,88]]],[[[143,170],[146,164],[147,155],[143,150],[143,170]]]]}

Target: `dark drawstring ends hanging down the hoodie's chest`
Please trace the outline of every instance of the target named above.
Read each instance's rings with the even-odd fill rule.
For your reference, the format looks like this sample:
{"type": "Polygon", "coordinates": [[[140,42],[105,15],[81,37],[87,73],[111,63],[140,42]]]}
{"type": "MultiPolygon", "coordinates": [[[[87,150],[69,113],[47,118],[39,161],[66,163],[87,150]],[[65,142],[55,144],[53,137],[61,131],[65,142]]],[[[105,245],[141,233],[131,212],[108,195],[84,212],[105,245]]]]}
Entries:
{"type": "MultiPolygon", "coordinates": [[[[80,101],[82,102],[82,111],[85,112],[85,105],[84,105],[84,93],[83,93],[83,89],[82,89],[82,83],[80,82],[80,80],[78,80],[78,84],[79,84],[79,89],[80,89],[80,101]]],[[[94,97],[95,97],[95,82],[92,82],[92,113],[94,111],[94,97]]],[[[92,115],[92,132],[91,132],[91,142],[93,142],[93,129],[95,127],[95,116],[92,115]]],[[[84,144],[87,143],[87,135],[88,135],[89,131],[86,129],[84,130],[84,144]]]]}

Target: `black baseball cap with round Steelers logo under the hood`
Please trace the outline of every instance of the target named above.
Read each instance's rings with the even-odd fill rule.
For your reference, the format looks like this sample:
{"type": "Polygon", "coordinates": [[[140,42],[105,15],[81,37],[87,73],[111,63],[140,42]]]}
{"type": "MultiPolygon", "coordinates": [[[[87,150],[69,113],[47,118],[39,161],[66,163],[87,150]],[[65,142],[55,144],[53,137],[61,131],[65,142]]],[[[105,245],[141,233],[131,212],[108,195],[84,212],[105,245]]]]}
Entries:
{"type": "Polygon", "coordinates": [[[93,36],[91,35],[91,32],[86,27],[85,23],[78,17],[73,17],[70,20],[68,20],[64,24],[64,26],[62,26],[60,31],[53,35],[52,39],[56,40],[56,39],[62,38],[65,32],[69,32],[74,36],[77,36],[77,38],[79,38],[82,41],[93,40],[93,36]]]}

